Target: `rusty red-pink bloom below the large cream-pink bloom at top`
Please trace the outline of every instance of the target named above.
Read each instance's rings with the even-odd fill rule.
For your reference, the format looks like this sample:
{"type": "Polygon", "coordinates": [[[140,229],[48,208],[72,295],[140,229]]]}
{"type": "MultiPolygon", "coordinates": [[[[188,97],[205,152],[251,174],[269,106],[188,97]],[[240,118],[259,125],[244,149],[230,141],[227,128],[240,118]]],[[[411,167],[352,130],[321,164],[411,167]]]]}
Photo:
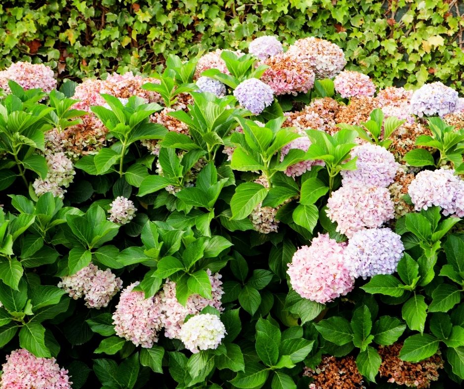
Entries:
{"type": "Polygon", "coordinates": [[[308,93],[314,85],[314,72],[301,61],[277,55],[264,62],[269,68],[261,80],[271,86],[275,95],[308,93]]]}

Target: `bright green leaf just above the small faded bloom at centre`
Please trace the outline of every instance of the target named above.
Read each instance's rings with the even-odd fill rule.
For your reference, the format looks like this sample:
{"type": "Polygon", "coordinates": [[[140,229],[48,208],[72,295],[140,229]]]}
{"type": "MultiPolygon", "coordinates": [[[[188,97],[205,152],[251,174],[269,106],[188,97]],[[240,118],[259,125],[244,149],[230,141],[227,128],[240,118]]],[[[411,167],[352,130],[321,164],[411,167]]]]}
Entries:
{"type": "Polygon", "coordinates": [[[232,220],[246,218],[267,194],[265,187],[254,182],[240,184],[231,199],[232,220]]]}

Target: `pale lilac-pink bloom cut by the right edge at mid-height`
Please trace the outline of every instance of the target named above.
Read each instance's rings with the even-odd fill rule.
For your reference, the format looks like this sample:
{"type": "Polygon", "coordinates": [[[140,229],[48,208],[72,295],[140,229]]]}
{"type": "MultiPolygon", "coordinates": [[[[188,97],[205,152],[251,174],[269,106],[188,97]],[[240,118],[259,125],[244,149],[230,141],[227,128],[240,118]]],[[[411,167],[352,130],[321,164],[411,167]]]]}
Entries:
{"type": "Polygon", "coordinates": [[[464,217],[464,181],[454,175],[454,169],[419,172],[408,188],[416,211],[438,206],[443,215],[464,217]]]}

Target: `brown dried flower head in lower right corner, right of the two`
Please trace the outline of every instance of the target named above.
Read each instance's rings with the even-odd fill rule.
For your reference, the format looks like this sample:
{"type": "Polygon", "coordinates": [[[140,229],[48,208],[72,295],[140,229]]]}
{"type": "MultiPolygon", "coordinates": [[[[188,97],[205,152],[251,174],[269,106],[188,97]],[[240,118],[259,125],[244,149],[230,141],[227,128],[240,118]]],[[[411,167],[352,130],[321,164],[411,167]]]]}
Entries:
{"type": "Polygon", "coordinates": [[[411,363],[398,357],[402,347],[402,343],[379,347],[382,357],[379,370],[381,377],[388,377],[390,383],[419,389],[428,388],[431,381],[438,380],[438,369],[443,368],[443,359],[439,352],[421,362],[411,363]]]}

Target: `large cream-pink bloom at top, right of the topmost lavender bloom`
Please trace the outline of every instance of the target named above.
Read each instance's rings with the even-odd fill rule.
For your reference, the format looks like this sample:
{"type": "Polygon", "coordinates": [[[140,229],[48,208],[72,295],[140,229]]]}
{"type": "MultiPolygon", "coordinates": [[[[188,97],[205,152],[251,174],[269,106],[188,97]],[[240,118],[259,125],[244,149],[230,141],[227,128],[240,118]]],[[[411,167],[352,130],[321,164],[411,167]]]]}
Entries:
{"type": "Polygon", "coordinates": [[[334,78],[347,64],[345,54],[339,46],[314,37],[298,39],[288,48],[286,54],[303,61],[318,78],[334,78]]]}

